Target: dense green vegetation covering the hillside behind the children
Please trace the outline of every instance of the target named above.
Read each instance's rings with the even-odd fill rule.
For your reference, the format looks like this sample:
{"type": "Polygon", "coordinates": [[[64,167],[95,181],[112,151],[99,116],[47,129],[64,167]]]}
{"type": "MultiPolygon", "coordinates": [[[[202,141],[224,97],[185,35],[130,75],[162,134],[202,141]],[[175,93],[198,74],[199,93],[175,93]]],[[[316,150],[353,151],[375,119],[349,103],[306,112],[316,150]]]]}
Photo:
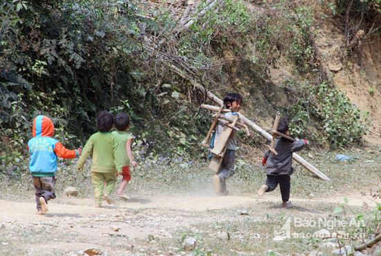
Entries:
{"type": "MultiPolygon", "coordinates": [[[[337,15],[351,6],[354,18],[379,19],[378,1],[321,3],[337,15]]],[[[183,31],[168,8],[150,10],[134,1],[3,1],[1,147],[26,153],[37,114],[53,119],[63,144],[79,146],[96,131],[96,113],[108,110],[131,115],[132,133],[152,142],[148,153],[200,155],[197,145],[210,123],[210,113],[200,110],[206,99],[168,65],[208,89],[227,86],[244,94],[248,113],[254,105],[266,109],[260,118],[272,119],[281,109],[294,123],[294,136],[333,148],[361,141],[366,114],[322,74],[312,8],[272,1],[258,3],[254,12],[229,0],[200,17],[205,6],[183,31]],[[279,58],[292,63],[301,82],[281,88],[269,82],[267,69],[279,58]],[[337,132],[342,128],[348,132],[337,132]]]]}

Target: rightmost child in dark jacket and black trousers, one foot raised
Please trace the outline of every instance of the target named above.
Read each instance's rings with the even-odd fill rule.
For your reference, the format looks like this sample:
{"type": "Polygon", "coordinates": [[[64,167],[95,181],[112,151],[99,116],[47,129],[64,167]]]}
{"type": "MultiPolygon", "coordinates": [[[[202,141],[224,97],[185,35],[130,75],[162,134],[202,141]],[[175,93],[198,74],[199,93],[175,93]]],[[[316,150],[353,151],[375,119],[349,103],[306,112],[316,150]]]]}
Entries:
{"type": "MultiPolygon", "coordinates": [[[[278,132],[288,135],[288,123],[286,121],[279,121],[278,132]]],[[[273,191],[279,184],[281,187],[282,207],[290,208],[292,203],[290,199],[290,180],[294,172],[292,168],[292,153],[301,151],[304,146],[310,143],[305,139],[299,139],[292,142],[284,137],[276,137],[274,149],[278,155],[274,155],[271,151],[267,150],[262,161],[267,173],[266,184],[258,190],[258,196],[262,197],[265,192],[273,191]]]]}

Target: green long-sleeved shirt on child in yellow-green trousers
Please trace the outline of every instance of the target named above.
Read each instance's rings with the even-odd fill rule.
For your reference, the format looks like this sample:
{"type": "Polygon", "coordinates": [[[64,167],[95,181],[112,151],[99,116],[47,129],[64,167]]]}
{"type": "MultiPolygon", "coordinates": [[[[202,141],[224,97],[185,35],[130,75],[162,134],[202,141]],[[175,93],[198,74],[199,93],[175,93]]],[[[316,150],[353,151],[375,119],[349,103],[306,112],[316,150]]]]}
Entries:
{"type": "Polygon", "coordinates": [[[99,173],[111,173],[118,169],[122,171],[121,160],[118,157],[118,142],[111,133],[94,133],[87,140],[82,155],[78,160],[77,167],[82,169],[86,160],[92,154],[91,171],[99,173]],[[118,167],[118,168],[116,168],[118,167]]]}

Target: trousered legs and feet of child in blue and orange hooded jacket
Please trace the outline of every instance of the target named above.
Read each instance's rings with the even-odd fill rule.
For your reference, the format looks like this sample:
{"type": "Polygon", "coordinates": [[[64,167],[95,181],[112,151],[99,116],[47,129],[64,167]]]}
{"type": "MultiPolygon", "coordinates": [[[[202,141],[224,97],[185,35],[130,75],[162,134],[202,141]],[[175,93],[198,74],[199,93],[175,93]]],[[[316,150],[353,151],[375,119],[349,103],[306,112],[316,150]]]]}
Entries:
{"type": "Polygon", "coordinates": [[[45,198],[46,203],[48,200],[54,199],[54,189],[55,189],[55,177],[32,177],[33,184],[35,185],[35,196],[36,196],[36,208],[37,211],[41,210],[41,203],[39,203],[39,198],[42,196],[45,198]]]}

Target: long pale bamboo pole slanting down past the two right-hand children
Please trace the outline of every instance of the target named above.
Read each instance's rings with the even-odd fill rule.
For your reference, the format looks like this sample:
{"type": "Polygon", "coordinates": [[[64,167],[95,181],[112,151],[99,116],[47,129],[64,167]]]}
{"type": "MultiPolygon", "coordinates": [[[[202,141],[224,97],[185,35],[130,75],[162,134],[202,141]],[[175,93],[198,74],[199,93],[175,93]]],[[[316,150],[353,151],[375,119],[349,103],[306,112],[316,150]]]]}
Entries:
{"type": "MultiPolygon", "coordinates": [[[[219,99],[217,96],[215,96],[214,94],[212,94],[211,92],[209,91],[206,91],[206,89],[196,83],[195,80],[189,78],[188,76],[184,75],[181,71],[179,71],[179,69],[177,69],[177,67],[175,67],[174,65],[168,63],[168,66],[172,69],[172,71],[174,71],[176,74],[178,74],[179,76],[181,76],[182,78],[190,81],[190,83],[193,83],[194,87],[196,89],[198,89],[200,92],[202,92],[203,94],[205,94],[209,99],[211,99],[212,101],[214,101],[217,105],[222,105],[224,102],[219,99]]],[[[215,108],[216,110],[213,110],[215,112],[217,112],[220,108],[218,107],[215,107],[215,106],[210,106],[212,110],[213,108],[215,108]]],[[[225,111],[225,110],[222,110],[222,111],[225,111]]],[[[229,110],[230,111],[230,110],[229,110]]],[[[227,111],[225,111],[227,112],[227,111]]],[[[268,141],[272,141],[272,135],[270,135],[269,133],[267,133],[265,130],[263,130],[262,128],[260,128],[259,126],[257,126],[254,122],[250,121],[249,119],[247,119],[243,114],[240,114],[240,118],[243,119],[246,123],[247,126],[250,126],[252,129],[254,129],[259,135],[265,137],[265,139],[267,139],[268,141]]],[[[292,153],[292,159],[294,159],[296,162],[298,162],[299,164],[301,164],[302,167],[304,167],[305,169],[307,169],[308,171],[310,171],[311,173],[313,173],[314,175],[318,176],[319,178],[321,178],[322,180],[330,180],[330,178],[328,178],[327,176],[324,175],[324,173],[321,173],[321,171],[319,171],[318,169],[316,169],[315,167],[312,166],[312,164],[310,164],[309,162],[305,161],[303,159],[303,157],[301,157],[300,155],[296,154],[296,153],[292,153]]]]}

